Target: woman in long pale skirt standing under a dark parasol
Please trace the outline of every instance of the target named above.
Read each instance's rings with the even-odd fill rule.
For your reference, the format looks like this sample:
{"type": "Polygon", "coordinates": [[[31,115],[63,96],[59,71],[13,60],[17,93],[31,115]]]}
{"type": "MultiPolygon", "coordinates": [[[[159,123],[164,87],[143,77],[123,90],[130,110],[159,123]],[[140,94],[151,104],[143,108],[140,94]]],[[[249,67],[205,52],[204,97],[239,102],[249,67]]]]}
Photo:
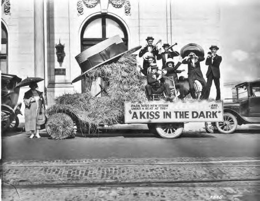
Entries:
{"type": "Polygon", "coordinates": [[[23,98],[23,102],[25,104],[25,131],[32,132],[29,138],[41,138],[39,135],[39,130],[41,127],[38,121],[38,117],[40,116],[41,107],[44,102],[43,93],[36,90],[36,88],[38,88],[37,82],[42,80],[42,78],[26,78],[17,84],[19,87],[28,85],[30,87],[30,90],[24,93],[23,98]]]}

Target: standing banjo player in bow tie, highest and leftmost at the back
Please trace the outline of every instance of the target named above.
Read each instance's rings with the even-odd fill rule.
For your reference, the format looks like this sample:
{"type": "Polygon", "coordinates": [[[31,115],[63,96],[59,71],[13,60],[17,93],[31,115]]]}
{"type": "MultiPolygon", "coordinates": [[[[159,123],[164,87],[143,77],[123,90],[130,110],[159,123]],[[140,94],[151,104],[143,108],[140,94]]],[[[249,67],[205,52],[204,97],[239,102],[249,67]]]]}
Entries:
{"type": "MultiPolygon", "coordinates": [[[[158,48],[157,48],[157,45],[153,46],[153,40],[154,40],[154,38],[152,36],[148,36],[146,38],[147,46],[141,49],[141,51],[139,52],[139,57],[142,57],[146,52],[151,52],[150,56],[153,56],[154,58],[155,58],[155,56],[156,57],[158,56],[158,48]]],[[[155,59],[154,59],[154,62],[156,63],[155,59]]],[[[149,63],[148,63],[148,60],[146,60],[146,58],[145,58],[144,61],[143,61],[143,66],[141,68],[142,69],[141,72],[144,75],[147,75],[147,68],[148,67],[149,67],[149,63]]]]}

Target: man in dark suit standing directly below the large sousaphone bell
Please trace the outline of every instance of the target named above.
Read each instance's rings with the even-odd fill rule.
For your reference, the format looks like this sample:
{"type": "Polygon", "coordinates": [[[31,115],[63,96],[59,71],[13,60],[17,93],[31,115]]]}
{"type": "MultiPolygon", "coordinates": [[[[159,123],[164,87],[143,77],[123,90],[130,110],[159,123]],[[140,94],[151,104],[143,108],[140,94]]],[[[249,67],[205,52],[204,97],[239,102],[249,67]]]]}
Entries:
{"type": "Polygon", "coordinates": [[[205,99],[205,92],[207,91],[206,81],[203,78],[202,72],[200,70],[200,61],[204,61],[205,58],[200,56],[198,57],[194,52],[190,52],[189,56],[185,57],[182,61],[183,64],[188,64],[188,81],[190,87],[191,97],[196,99],[194,81],[198,80],[202,85],[202,91],[200,99],[205,99]]]}

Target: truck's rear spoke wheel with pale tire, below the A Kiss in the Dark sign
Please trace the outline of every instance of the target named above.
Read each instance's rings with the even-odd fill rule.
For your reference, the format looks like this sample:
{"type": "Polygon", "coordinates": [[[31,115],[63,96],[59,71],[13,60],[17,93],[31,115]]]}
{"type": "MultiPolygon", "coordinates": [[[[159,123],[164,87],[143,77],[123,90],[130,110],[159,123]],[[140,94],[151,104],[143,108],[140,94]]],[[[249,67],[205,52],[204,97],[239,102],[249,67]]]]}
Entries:
{"type": "Polygon", "coordinates": [[[177,138],[183,131],[184,123],[159,123],[155,128],[163,138],[177,138]]]}

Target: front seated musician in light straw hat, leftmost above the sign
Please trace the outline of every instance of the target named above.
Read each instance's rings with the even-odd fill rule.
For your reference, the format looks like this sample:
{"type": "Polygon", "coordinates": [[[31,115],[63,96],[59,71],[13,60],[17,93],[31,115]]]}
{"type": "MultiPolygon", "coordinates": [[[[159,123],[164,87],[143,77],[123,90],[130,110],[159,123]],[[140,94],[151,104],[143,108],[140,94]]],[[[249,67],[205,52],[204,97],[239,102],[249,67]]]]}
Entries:
{"type": "Polygon", "coordinates": [[[162,84],[162,75],[160,75],[158,72],[158,66],[156,64],[151,64],[148,68],[148,74],[147,74],[147,85],[145,86],[145,90],[147,93],[148,100],[152,100],[151,94],[161,94],[162,92],[165,92],[167,101],[171,101],[170,99],[170,86],[169,84],[162,84]]]}

